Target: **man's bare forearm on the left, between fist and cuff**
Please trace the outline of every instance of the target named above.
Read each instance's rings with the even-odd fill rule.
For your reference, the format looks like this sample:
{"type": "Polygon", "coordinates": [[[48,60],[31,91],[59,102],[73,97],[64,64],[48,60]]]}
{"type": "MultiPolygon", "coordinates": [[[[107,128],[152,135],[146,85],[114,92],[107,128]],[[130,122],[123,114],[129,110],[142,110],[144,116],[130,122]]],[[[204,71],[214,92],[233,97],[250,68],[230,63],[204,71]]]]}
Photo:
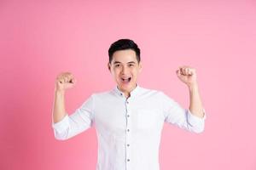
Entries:
{"type": "Polygon", "coordinates": [[[53,121],[60,122],[66,116],[65,110],[65,92],[55,90],[55,101],[53,108],[53,121]]]}

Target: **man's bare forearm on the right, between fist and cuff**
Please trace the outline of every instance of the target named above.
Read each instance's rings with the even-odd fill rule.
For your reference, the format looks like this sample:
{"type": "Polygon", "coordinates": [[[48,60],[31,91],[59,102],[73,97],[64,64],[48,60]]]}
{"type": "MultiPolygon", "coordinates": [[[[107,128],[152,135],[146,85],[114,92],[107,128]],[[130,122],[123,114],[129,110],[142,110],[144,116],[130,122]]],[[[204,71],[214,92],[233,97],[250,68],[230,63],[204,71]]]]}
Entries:
{"type": "Polygon", "coordinates": [[[195,116],[199,116],[201,118],[204,116],[197,83],[189,86],[189,111],[195,116]]]}

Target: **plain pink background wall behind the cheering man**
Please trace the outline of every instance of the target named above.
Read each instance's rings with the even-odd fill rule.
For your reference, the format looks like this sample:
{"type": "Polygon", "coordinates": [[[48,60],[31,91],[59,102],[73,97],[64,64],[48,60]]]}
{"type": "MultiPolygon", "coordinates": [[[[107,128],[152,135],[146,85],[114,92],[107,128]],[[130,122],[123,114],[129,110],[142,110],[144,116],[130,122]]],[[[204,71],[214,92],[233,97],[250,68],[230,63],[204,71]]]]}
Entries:
{"type": "Polygon", "coordinates": [[[55,77],[71,71],[72,113],[92,93],[112,89],[109,45],[142,49],[139,84],[183,107],[179,65],[198,72],[205,132],[165,125],[162,170],[255,170],[255,1],[0,1],[0,169],[95,169],[96,131],[59,141],[51,127],[55,77]],[[253,105],[254,104],[254,105],[253,105]]]}

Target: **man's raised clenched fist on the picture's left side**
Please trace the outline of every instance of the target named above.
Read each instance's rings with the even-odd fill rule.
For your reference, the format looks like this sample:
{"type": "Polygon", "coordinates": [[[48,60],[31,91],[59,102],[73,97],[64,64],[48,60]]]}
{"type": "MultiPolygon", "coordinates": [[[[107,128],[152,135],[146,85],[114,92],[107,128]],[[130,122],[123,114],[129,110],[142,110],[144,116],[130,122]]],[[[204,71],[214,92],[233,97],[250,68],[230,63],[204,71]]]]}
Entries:
{"type": "Polygon", "coordinates": [[[56,91],[65,91],[67,88],[73,88],[75,85],[76,79],[73,77],[73,74],[70,72],[61,72],[56,77],[55,80],[55,90],[56,91]]]}

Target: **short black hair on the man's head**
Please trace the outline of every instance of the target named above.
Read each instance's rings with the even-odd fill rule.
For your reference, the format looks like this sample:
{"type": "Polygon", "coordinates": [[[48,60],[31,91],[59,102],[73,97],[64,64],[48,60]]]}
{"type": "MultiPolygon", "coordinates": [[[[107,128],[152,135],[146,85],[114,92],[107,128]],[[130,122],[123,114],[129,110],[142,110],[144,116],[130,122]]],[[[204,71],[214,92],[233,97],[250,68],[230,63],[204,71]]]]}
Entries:
{"type": "Polygon", "coordinates": [[[118,41],[113,42],[108,49],[109,63],[111,63],[113,59],[113,53],[123,49],[132,49],[136,53],[137,62],[139,63],[141,61],[141,51],[137,44],[131,39],[119,39],[118,41]]]}

